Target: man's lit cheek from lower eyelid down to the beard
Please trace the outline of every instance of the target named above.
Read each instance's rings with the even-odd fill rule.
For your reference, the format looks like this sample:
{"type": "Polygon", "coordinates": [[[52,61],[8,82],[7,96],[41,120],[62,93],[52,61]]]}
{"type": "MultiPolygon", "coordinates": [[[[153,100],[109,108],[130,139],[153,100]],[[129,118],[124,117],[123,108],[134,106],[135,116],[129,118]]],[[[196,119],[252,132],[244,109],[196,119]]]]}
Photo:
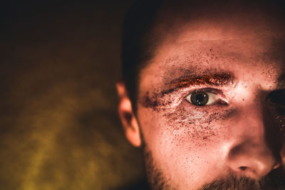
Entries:
{"type": "Polygon", "coordinates": [[[222,112],[213,115],[212,110],[202,112],[185,107],[186,103],[169,111],[140,109],[145,116],[142,133],[155,164],[170,181],[201,184],[222,173],[221,147],[229,132],[222,112]]]}

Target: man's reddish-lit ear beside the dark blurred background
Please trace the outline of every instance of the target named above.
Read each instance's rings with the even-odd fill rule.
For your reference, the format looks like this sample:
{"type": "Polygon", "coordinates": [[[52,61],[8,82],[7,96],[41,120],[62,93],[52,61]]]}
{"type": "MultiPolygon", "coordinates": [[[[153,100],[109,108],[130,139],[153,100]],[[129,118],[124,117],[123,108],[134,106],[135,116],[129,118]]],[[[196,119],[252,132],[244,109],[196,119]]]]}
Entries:
{"type": "Polygon", "coordinates": [[[133,112],[132,103],[127,95],[125,84],[118,82],[116,84],[118,95],[119,95],[119,107],[118,112],[120,120],[123,123],[125,131],[125,137],[135,147],[140,147],[142,141],[140,139],[140,128],[138,126],[138,120],[133,112]]]}

